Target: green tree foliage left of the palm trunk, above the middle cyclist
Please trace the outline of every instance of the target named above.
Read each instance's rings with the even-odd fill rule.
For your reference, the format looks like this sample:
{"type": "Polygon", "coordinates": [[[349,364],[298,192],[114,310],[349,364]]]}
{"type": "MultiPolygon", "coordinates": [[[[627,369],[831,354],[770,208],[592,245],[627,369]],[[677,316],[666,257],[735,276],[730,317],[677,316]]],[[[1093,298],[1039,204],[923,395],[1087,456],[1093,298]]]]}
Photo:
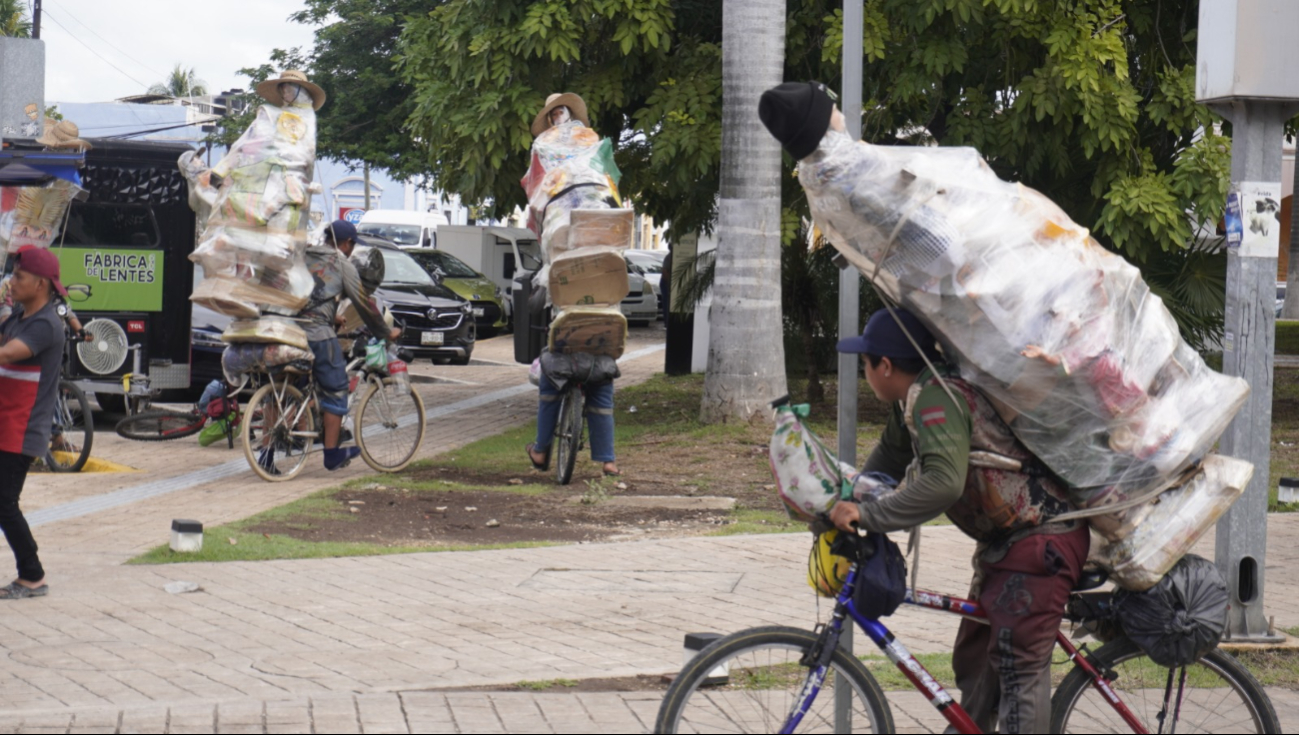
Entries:
{"type": "Polygon", "coordinates": [[[505,214],[523,203],[533,117],[586,100],[617,142],[622,191],[675,231],[713,218],[721,158],[721,3],[448,0],[413,16],[399,69],[439,187],[505,214]]]}

